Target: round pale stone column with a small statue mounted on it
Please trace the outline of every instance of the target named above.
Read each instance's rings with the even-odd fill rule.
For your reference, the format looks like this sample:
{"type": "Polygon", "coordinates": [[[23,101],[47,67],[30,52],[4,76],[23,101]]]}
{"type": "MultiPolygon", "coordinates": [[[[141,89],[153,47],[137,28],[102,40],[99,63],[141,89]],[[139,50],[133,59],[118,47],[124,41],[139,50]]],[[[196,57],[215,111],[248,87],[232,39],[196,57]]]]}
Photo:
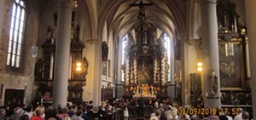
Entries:
{"type": "Polygon", "coordinates": [[[202,72],[203,97],[205,106],[212,108],[221,106],[216,1],[217,0],[201,0],[201,34],[204,64],[204,71],[202,72]],[[213,90],[214,92],[212,89],[215,89],[213,90]]]}

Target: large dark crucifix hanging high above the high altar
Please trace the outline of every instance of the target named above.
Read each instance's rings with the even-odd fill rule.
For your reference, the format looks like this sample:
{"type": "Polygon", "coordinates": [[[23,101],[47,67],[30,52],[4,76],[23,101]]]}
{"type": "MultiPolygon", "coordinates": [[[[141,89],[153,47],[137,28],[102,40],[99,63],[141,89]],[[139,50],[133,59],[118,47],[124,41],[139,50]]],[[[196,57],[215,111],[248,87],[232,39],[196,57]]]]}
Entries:
{"type": "Polygon", "coordinates": [[[140,3],[131,3],[130,7],[137,6],[139,8],[139,14],[137,14],[137,18],[140,20],[140,25],[139,25],[139,41],[143,41],[143,22],[145,20],[145,9],[144,6],[152,6],[153,3],[143,3],[141,0],[140,3]]]}

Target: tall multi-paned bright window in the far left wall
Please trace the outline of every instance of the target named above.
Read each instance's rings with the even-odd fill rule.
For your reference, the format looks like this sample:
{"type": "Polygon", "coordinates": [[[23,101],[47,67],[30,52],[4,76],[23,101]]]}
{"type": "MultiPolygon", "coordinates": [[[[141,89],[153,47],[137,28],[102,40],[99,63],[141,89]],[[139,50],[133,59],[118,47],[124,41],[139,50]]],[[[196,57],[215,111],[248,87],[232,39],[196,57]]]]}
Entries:
{"type": "Polygon", "coordinates": [[[9,48],[7,65],[20,68],[21,45],[24,37],[25,3],[23,0],[15,0],[13,3],[11,24],[9,29],[9,48]]]}

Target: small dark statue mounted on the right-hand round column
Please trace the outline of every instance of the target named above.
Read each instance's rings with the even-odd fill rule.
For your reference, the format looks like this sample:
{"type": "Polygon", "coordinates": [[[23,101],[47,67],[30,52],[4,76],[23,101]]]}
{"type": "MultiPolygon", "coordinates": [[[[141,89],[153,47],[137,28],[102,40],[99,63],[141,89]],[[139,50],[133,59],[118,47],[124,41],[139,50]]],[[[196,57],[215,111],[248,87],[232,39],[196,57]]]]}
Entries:
{"type": "Polygon", "coordinates": [[[215,75],[215,71],[212,69],[212,75],[210,79],[210,95],[215,95],[218,93],[218,77],[215,75]]]}

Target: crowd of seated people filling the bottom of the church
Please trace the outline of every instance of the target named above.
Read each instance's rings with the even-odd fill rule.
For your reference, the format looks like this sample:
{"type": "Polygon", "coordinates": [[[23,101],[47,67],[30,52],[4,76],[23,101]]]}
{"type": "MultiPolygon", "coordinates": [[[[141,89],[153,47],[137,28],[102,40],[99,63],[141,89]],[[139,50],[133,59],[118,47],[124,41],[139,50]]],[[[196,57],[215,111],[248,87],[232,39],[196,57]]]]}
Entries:
{"type": "Polygon", "coordinates": [[[181,111],[194,107],[199,106],[181,106],[168,99],[145,98],[104,100],[100,106],[93,106],[92,100],[80,105],[67,104],[57,107],[9,104],[1,106],[0,120],[129,120],[136,117],[146,117],[150,120],[248,120],[250,118],[249,113],[242,111],[241,108],[236,112],[236,116],[230,116],[228,112],[220,111],[219,108],[216,108],[214,114],[211,112],[204,115],[200,112],[190,114],[181,111]],[[115,112],[118,112],[119,117],[113,117],[115,112]]]}

